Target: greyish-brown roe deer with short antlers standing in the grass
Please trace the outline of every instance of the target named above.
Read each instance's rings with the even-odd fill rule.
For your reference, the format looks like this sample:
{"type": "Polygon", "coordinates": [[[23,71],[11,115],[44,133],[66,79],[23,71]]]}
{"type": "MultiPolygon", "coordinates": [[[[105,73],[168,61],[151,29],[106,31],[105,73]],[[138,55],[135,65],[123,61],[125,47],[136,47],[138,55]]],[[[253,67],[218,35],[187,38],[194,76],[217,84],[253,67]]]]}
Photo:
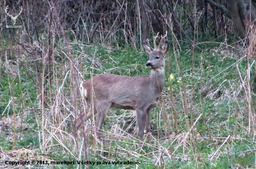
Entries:
{"type": "Polygon", "coordinates": [[[86,102],[86,115],[83,114],[81,122],[77,127],[81,126],[84,120],[92,117],[91,106],[93,112],[97,113],[96,118],[96,133],[102,143],[105,144],[102,134],[102,123],[108,114],[110,107],[117,107],[126,110],[136,110],[138,121],[138,134],[141,143],[143,141],[144,125],[146,129],[148,143],[150,143],[150,110],[155,107],[162,93],[165,84],[164,75],[164,54],[168,52],[168,41],[162,45],[163,39],[158,46],[155,40],[158,38],[158,33],[154,38],[154,47],[143,44],[144,51],[149,56],[146,63],[151,67],[151,74],[148,76],[121,76],[112,74],[100,74],[92,79],[83,81],[80,85],[81,95],[86,102]],[[92,84],[91,84],[92,83],[92,84]],[[91,99],[93,99],[93,104],[91,99]]]}

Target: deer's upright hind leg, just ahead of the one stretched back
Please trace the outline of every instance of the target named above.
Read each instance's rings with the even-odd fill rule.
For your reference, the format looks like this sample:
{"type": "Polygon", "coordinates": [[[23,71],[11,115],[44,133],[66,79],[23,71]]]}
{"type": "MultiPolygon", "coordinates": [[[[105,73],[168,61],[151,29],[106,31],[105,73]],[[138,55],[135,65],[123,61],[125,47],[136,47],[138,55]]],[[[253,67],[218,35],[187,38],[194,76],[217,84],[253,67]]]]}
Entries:
{"type": "Polygon", "coordinates": [[[108,114],[108,110],[111,106],[111,103],[98,103],[98,106],[96,106],[97,110],[97,117],[96,117],[96,133],[98,135],[99,140],[102,140],[103,145],[106,144],[106,140],[104,139],[103,136],[103,130],[102,130],[102,124],[104,122],[104,119],[106,115],[108,114]]]}

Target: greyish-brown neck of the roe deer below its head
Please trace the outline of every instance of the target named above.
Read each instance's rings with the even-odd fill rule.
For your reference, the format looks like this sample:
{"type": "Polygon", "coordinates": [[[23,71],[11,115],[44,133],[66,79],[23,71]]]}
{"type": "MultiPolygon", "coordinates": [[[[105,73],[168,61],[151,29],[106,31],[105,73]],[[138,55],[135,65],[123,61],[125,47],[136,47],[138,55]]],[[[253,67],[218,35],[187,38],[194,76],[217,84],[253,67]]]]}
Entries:
{"type": "Polygon", "coordinates": [[[150,84],[152,84],[157,90],[162,92],[162,89],[165,84],[165,74],[164,68],[160,67],[158,69],[152,69],[151,74],[149,75],[150,84]]]}

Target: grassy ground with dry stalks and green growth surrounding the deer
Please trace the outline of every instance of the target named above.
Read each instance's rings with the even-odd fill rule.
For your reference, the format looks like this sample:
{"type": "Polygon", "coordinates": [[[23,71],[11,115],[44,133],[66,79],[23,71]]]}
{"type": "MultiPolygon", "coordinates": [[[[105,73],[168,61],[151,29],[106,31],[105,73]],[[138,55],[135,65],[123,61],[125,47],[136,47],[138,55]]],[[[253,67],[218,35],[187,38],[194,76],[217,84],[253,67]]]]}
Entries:
{"type": "Polygon", "coordinates": [[[249,46],[240,47],[242,41],[230,32],[204,40],[195,29],[193,44],[177,40],[170,24],[166,85],[159,106],[150,113],[151,143],[140,148],[135,111],[111,110],[103,124],[109,143],[105,147],[95,136],[94,117],[83,130],[74,130],[80,106],[84,111],[76,77],[79,82],[101,73],[148,75],[147,56],[138,47],[140,33],[131,32],[128,42],[127,36],[117,38],[120,30],[114,26],[109,33],[99,31],[89,44],[92,29],[84,25],[82,39],[68,31],[65,43],[54,15],[47,16],[52,22],[39,37],[22,29],[11,30],[13,36],[10,30],[0,35],[2,167],[12,168],[7,160],[87,161],[88,156],[94,162],[140,163],[111,163],[109,168],[255,168],[255,32],[249,46]],[[228,43],[222,37],[235,40],[228,43]]]}

